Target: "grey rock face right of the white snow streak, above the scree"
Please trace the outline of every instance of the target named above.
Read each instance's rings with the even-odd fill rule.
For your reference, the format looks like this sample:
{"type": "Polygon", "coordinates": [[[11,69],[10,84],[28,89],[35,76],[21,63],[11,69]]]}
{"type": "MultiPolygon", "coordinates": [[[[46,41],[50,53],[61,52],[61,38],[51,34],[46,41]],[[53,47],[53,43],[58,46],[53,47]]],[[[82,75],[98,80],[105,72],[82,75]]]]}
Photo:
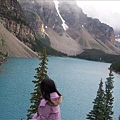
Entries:
{"type": "MultiPolygon", "coordinates": [[[[60,2],[59,10],[69,28],[79,31],[84,27],[95,39],[99,39],[104,43],[106,43],[106,41],[114,43],[115,37],[113,28],[107,24],[101,23],[98,19],[87,17],[75,2],[60,2]]],[[[69,29],[68,34],[71,35],[69,29]]]]}

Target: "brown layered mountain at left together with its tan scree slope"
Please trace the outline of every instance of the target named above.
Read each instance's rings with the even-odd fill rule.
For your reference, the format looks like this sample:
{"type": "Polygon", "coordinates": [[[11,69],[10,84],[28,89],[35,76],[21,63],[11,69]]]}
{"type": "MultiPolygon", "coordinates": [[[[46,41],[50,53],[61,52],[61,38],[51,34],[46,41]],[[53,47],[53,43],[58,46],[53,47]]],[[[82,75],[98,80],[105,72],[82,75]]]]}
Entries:
{"type": "Polygon", "coordinates": [[[31,50],[34,41],[34,31],[17,0],[0,0],[0,52],[12,57],[36,57],[31,50]]]}

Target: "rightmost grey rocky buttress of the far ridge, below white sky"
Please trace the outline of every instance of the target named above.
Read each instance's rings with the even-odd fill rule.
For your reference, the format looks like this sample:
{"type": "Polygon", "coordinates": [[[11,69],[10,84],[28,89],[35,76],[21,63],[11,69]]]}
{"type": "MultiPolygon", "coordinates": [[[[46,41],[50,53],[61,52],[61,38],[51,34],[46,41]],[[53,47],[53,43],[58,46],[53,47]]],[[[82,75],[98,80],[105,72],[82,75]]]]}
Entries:
{"type": "Polygon", "coordinates": [[[115,36],[113,28],[107,24],[101,23],[98,19],[88,18],[85,27],[96,39],[100,39],[103,43],[106,44],[107,41],[114,43],[115,36]]]}

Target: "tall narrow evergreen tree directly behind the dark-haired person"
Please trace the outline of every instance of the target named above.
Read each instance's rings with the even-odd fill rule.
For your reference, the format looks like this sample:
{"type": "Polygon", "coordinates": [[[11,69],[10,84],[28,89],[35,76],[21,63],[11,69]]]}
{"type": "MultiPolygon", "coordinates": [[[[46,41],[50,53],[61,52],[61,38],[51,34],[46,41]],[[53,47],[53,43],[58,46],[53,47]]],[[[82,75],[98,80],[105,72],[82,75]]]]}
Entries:
{"type": "Polygon", "coordinates": [[[34,92],[31,93],[31,99],[30,99],[30,103],[32,104],[28,110],[28,117],[31,114],[34,114],[37,112],[38,109],[38,105],[40,103],[40,96],[41,96],[41,91],[40,91],[40,83],[44,78],[47,78],[47,54],[46,54],[46,49],[43,49],[43,53],[40,55],[40,60],[41,63],[39,64],[39,67],[36,68],[36,75],[34,76],[34,78],[36,80],[33,80],[32,82],[35,84],[35,88],[34,88],[34,92]]]}

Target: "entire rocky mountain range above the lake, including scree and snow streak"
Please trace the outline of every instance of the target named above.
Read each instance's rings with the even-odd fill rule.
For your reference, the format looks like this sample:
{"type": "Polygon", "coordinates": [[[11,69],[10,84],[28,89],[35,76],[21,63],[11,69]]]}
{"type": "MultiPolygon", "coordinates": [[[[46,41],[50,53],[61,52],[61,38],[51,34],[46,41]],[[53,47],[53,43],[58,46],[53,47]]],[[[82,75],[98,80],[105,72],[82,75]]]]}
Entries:
{"type": "Polygon", "coordinates": [[[86,49],[120,54],[113,28],[99,19],[87,17],[75,1],[59,1],[58,4],[47,0],[1,0],[0,23],[7,31],[0,31],[0,51],[4,49],[6,52],[2,52],[9,56],[22,56],[26,49],[40,52],[43,47],[50,55],[77,56],[86,49]],[[7,47],[3,46],[3,41],[7,47]],[[22,50],[16,53],[14,47],[9,47],[11,45],[22,45],[19,48],[22,50]]]}

